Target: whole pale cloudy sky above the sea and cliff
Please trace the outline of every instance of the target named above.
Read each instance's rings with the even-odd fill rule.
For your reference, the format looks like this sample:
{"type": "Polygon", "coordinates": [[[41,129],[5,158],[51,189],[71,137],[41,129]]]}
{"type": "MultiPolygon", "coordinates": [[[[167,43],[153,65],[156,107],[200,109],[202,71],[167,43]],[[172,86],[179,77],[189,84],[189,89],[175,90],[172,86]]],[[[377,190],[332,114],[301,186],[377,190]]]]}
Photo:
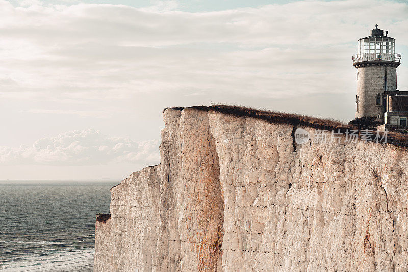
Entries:
{"type": "Polygon", "coordinates": [[[160,162],[162,110],[232,104],[347,122],[357,40],[401,53],[406,1],[0,0],[0,180],[123,179],[160,162]]]}

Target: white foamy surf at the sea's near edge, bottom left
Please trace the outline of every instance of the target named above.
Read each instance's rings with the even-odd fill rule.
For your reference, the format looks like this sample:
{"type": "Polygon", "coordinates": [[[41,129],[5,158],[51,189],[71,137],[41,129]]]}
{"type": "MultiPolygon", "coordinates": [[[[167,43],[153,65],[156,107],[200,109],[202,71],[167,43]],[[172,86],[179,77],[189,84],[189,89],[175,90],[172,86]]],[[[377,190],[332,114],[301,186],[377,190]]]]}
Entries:
{"type": "Polygon", "coordinates": [[[94,249],[56,251],[48,256],[22,256],[24,260],[0,265],[3,272],[92,271],[94,249]]]}

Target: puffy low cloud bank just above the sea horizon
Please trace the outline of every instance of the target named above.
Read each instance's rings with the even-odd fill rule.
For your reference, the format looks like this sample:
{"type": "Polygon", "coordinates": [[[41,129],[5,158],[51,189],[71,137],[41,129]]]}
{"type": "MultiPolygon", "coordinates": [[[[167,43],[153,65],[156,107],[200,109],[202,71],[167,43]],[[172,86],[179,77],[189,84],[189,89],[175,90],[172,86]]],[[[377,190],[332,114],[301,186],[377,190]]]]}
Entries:
{"type": "Polygon", "coordinates": [[[151,165],[160,162],[160,140],[136,142],[123,137],[106,137],[92,129],[69,131],[41,138],[33,146],[0,146],[4,165],[98,165],[130,162],[151,165]]]}

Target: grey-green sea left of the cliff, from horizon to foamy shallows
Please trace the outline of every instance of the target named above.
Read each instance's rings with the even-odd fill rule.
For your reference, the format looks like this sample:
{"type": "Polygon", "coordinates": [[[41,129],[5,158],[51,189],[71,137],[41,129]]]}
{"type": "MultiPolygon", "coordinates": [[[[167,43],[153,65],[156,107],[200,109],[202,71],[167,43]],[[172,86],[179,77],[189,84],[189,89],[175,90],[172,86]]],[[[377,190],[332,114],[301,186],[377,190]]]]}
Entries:
{"type": "Polygon", "coordinates": [[[120,181],[0,181],[0,270],[92,271],[95,215],[120,181]]]}

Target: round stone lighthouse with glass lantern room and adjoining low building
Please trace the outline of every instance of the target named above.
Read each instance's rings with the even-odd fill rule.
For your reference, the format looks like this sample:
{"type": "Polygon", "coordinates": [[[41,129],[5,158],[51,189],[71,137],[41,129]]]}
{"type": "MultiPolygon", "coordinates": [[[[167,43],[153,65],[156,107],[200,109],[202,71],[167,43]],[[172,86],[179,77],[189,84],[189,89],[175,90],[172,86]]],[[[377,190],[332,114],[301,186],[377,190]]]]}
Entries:
{"type": "Polygon", "coordinates": [[[395,39],[378,25],[370,36],[359,39],[358,54],[353,56],[358,82],[356,118],[372,116],[386,125],[408,126],[408,91],[397,90],[400,60],[395,39]]]}

